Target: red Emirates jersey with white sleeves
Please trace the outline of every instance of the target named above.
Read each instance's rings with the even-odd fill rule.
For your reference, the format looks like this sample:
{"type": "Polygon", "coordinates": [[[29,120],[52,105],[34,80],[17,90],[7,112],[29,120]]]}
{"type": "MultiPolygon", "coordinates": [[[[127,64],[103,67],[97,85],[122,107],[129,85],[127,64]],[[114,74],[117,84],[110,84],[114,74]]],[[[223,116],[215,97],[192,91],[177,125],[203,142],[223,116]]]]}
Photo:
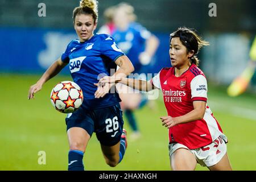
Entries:
{"type": "MultiPolygon", "coordinates": [[[[192,64],[180,77],[175,76],[175,68],[163,68],[151,83],[162,90],[168,115],[179,117],[192,111],[193,101],[207,102],[207,80],[204,73],[192,64]]],[[[207,146],[221,136],[221,127],[213,117],[209,106],[205,108],[203,119],[181,123],[169,129],[170,143],[180,143],[189,149],[207,146]]]]}

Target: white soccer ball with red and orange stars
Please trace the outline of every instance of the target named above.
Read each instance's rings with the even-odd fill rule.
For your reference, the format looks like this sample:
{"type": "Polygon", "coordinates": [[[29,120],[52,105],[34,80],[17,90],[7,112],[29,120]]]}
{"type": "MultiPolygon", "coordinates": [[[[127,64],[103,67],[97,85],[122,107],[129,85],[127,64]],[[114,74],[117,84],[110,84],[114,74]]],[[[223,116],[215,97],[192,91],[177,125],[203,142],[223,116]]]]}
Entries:
{"type": "Polygon", "coordinates": [[[73,113],[84,100],[82,89],[73,81],[61,81],[51,92],[51,103],[61,113],[73,113]]]}

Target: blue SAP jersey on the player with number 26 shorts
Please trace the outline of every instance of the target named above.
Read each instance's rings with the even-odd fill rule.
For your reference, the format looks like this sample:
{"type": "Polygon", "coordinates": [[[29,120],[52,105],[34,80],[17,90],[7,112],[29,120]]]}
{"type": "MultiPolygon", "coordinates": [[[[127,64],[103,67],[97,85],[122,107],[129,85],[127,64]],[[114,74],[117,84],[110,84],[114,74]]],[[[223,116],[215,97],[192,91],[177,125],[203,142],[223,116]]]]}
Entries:
{"type": "Polygon", "coordinates": [[[106,34],[96,34],[86,42],[72,40],[66,51],[61,56],[64,63],[69,63],[73,81],[82,89],[86,109],[98,109],[113,106],[120,102],[118,93],[108,93],[102,98],[95,98],[94,93],[97,83],[102,76],[110,76],[115,72],[117,65],[114,63],[119,56],[125,55],[119,49],[112,37],[106,34]]]}

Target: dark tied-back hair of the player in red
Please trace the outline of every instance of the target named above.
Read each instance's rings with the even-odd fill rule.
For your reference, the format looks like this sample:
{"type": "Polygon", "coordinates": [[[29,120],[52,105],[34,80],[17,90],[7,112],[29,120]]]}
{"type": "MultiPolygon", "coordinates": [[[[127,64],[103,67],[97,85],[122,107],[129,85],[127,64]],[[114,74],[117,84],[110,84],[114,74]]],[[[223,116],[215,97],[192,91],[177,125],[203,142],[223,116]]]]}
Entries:
{"type": "Polygon", "coordinates": [[[172,32],[172,34],[170,34],[170,43],[172,38],[180,38],[180,42],[187,48],[187,53],[193,50],[194,55],[190,57],[190,61],[193,64],[199,65],[199,59],[196,55],[199,53],[201,47],[208,46],[209,42],[206,42],[197,35],[196,30],[186,27],[180,27],[172,32]]]}

